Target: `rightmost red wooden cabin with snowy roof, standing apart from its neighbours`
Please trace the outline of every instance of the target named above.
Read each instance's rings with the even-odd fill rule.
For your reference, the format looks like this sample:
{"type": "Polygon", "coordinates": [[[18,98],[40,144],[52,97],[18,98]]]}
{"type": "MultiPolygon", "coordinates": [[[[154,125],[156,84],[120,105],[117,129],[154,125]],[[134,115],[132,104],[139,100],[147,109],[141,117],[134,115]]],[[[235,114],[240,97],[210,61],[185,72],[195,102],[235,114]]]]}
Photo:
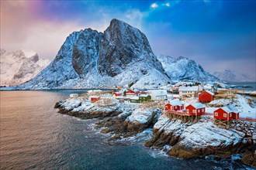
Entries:
{"type": "Polygon", "coordinates": [[[228,107],[221,107],[214,111],[213,117],[219,120],[230,121],[232,119],[238,119],[239,114],[230,110],[228,107]]]}

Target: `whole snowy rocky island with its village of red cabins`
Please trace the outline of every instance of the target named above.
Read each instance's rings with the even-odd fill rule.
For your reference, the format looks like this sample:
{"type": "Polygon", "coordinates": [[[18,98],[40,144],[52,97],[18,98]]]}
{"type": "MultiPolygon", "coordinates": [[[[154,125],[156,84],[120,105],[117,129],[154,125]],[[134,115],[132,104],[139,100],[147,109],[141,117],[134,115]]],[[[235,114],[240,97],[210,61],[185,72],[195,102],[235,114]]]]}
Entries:
{"type": "Polygon", "coordinates": [[[165,90],[89,90],[71,94],[55,108],[81,119],[96,118],[95,129],[112,134],[109,141],[150,128],[153,134],[144,141],[145,147],[177,158],[227,158],[241,153],[242,161],[255,167],[256,123],[250,99],[236,91],[207,87],[211,86],[184,83],[165,90]]]}

